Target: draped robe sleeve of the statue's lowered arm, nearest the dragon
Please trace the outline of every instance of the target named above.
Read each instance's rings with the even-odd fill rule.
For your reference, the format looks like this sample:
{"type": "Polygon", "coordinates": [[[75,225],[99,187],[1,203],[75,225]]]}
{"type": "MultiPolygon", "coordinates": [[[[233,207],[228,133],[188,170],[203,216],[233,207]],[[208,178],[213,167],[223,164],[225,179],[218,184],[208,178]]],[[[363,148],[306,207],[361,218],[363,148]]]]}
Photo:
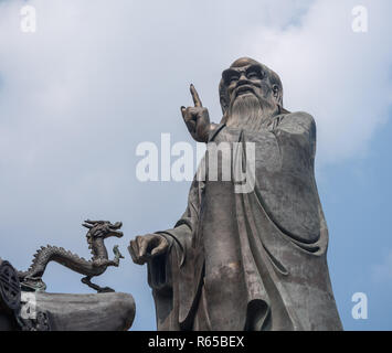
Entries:
{"type": "Polygon", "coordinates": [[[203,188],[204,182],[195,178],[182,217],[173,228],[156,232],[170,244],[166,254],[148,261],[148,284],[152,288],[160,331],[179,330],[192,311],[199,286],[198,277],[203,267],[195,239],[203,188]]]}

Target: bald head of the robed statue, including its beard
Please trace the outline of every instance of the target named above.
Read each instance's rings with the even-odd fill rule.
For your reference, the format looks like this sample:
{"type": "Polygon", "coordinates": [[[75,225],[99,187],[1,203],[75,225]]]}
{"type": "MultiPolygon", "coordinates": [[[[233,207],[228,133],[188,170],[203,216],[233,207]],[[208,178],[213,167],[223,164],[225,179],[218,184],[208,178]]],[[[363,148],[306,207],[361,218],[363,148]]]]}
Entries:
{"type": "MultiPolygon", "coordinates": [[[[222,73],[220,100],[224,117],[263,116],[283,111],[283,87],[279,76],[250,57],[236,60],[222,73]],[[257,113],[257,111],[258,113],[257,113]]],[[[256,117],[253,117],[256,119],[256,117]]],[[[258,119],[258,120],[259,120],[258,119]]]]}

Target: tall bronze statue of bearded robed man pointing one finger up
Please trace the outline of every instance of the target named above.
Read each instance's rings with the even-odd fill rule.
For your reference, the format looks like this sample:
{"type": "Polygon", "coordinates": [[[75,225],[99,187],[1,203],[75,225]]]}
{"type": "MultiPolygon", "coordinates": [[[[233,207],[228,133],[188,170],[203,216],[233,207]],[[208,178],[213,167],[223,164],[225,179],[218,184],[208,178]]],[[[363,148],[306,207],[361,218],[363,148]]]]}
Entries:
{"type": "MultiPolygon", "coordinates": [[[[181,107],[182,117],[208,147],[229,142],[234,153],[254,143],[254,188],[236,192],[223,168],[209,180],[208,164],[174,227],[130,242],[134,263],[148,265],[158,330],[342,330],[314,173],[314,118],[284,109],[279,76],[252,58],[225,69],[219,92],[219,125],[192,85],[194,107],[181,107]]],[[[203,165],[210,157],[208,148],[203,165]]]]}

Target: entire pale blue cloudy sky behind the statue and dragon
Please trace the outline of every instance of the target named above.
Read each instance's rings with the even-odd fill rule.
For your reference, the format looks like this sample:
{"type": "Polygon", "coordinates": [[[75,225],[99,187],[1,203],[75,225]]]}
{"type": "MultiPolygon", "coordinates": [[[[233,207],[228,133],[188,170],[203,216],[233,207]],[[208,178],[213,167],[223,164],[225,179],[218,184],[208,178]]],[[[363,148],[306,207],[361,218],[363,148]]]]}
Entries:
{"type": "MultiPolygon", "coordinates": [[[[123,221],[118,269],[97,279],[134,295],[133,330],[153,330],[146,268],[126,247],[170,228],[189,183],[135,176],[136,147],[192,142],[180,106],[193,83],[221,119],[222,71],[252,56],[282,77],[289,110],[317,122],[317,182],[330,233],[330,275],[347,330],[391,330],[392,33],[388,0],[363,0],[369,31],[353,33],[353,0],[0,2],[0,256],[30,265],[41,245],[88,257],[81,223],[123,221]],[[20,9],[36,9],[36,32],[20,31],[20,9]],[[351,317],[364,292],[368,320],[351,317]]],[[[117,240],[117,239],[116,239],[117,240]]],[[[89,292],[53,264],[49,291],[89,292]]]]}

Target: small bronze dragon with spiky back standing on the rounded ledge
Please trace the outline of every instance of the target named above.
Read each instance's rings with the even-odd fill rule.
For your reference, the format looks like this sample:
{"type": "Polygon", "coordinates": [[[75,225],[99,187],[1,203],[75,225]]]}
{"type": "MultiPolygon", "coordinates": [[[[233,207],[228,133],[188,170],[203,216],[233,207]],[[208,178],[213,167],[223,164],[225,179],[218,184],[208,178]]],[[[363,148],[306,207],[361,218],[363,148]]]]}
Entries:
{"type": "Polygon", "coordinates": [[[99,287],[91,281],[93,277],[99,276],[105,272],[109,266],[118,267],[119,259],[124,258],[118,250],[118,245],[115,245],[113,253],[115,258],[108,259],[105,239],[108,237],[123,237],[123,232],[118,229],[123,226],[121,222],[112,224],[108,221],[85,221],[82,224],[88,228],[86,234],[88,248],[92,250],[93,257],[86,260],[71,252],[65,250],[62,247],[47,245],[41,247],[34,255],[33,261],[27,271],[19,271],[18,277],[23,290],[30,291],[44,291],[46,285],[42,280],[42,276],[46,269],[46,266],[51,261],[56,261],[73,271],[76,271],[86,277],[82,278],[82,282],[88,287],[95,289],[97,292],[114,291],[109,287],[99,287]]]}

